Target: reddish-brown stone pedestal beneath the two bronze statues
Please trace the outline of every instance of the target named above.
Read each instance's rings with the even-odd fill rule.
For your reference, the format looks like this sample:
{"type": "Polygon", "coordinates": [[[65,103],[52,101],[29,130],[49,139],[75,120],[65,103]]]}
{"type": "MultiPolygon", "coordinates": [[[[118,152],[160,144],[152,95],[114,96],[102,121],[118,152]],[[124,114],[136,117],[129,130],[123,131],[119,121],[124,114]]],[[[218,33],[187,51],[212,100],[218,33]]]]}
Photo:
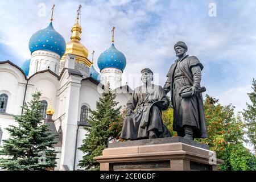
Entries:
{"type": "Polygon", "coordinates": [[[182,137],[110,143],[94,159],[101,171],[216,171],[222,162],[207,145],[182,137]]]}

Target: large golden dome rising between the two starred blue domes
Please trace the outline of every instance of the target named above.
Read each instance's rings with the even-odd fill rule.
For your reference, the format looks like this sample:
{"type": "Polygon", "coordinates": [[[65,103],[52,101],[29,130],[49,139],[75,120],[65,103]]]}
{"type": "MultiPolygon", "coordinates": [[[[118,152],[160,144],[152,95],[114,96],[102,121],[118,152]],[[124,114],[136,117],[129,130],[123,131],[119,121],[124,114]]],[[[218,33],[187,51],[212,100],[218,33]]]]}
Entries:
{"type": "Polygon", "coordinates": [[[66,44],[66,51],[64,55],[61,57],[61,61],[64,61],[67,54],[76,55],[76,61],[78,63],[84,63],[87,67],[90,67],[92,64],[88,57],[88,49],[86,49],[81,43],[80,43],[80,36],[82,32],[82,28],[79,24],[79,19],[76,19],[76,23],[72,27],[72,36],[71,41],[66,44]]]}

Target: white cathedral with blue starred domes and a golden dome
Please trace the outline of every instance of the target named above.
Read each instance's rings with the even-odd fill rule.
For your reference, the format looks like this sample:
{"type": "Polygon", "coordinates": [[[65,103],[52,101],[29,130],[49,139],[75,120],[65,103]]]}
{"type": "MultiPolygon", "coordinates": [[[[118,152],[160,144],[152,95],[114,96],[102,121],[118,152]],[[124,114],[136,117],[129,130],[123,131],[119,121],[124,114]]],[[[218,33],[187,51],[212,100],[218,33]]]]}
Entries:
{"type": "Polygon", "coordinates": [[[98,57],[97,73],[93,59],[88,59],[88,49],[80,42],[81,30],[77,16],[71,40],[65,43],[51,19],[48,27],[31,36],[31,59],[21,68],[9,60],[0,61],[0,144],[9,138],[6,127],[17,126],[14,116],[22,114],[24,102],[40,91],[42,114],[46,121],[47,115],[51,115],[52,125],[60,135],[55,170],[79,169],[77,164],[84,154],[77,148],[85,138],[83,126],[88,125],[88,108],[96,109],[103,86],[109,82],[111,89],[118,90],[115,100],[119,106],[126,105],[132,92],[129,86],[121,85],[126,58],[115,48],[114,40],[98,57]]]}

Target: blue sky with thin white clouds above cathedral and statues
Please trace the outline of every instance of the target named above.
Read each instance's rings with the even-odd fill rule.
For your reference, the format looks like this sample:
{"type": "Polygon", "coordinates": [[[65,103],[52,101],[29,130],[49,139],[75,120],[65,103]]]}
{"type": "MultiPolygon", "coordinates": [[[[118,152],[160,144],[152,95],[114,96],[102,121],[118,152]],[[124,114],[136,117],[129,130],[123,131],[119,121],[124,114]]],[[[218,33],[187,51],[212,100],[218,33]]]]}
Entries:
{"type": "Polygon", "coordinates": [[[53,3],[53,27],[66,42],[82,5],[81,43],[96,51],[96,58],[110,46],[116,27],[115,47],[127,59],[124,75],[148,67],[159,73],[163,85],[175,60],[173,46],[181,40],[188,54],[203,63],[201,85],[210,96],[232,103],[237,111],[249,102],[246,93],[256,77],[256,1],[1,1],[0,60],[21,65],[30,57],[28,40],[48,26],[53,3]],[[39,16],[40,3],[46,5],[45,16],[39,16]],[[216,17],[208,14],[209,3],[216,4],[216,17]]]}

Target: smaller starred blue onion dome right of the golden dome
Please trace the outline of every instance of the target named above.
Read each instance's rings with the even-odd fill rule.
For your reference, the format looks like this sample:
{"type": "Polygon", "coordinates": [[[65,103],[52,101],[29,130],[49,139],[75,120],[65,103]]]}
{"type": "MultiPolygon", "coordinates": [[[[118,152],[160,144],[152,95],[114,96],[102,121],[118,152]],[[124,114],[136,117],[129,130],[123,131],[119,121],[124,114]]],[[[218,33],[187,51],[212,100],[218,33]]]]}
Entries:
{"type": "Polygon", "coordinates": [[[104,68],[117,68],[123,71],[125,67],[125,55],[123,55],[122,52],[118,51],[113,43],[106,51],[101,53],[100,57],[98,57],[98,68],[100,68],[100,70],[104,68]]]}

